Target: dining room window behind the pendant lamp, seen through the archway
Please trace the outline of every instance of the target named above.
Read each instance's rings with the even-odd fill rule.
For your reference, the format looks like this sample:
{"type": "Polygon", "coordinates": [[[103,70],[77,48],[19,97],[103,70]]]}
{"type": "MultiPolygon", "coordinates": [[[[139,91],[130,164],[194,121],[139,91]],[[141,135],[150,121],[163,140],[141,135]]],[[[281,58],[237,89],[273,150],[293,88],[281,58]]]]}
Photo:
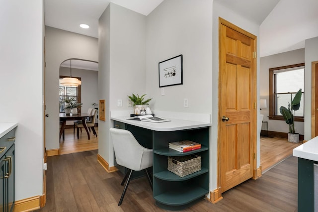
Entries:
{"type": "MultiPolygon", "coordinates": [[[[60,79],[62,79],[64,76],[60,76],[60,79]]],[[[80,80],[80,78],[78,78],[80,80]]],[[[61,86],[59,88],[59,95],[60,95],[60,112],[64,112],[65,108],[65,102],[66,99],[73,98],[78,103],[80,103],[80,86],[79,87],[69,87],[69,86],[61,86]]],[[[80,112],[80,107],[78,108],[78,111],[80,112]]]]}

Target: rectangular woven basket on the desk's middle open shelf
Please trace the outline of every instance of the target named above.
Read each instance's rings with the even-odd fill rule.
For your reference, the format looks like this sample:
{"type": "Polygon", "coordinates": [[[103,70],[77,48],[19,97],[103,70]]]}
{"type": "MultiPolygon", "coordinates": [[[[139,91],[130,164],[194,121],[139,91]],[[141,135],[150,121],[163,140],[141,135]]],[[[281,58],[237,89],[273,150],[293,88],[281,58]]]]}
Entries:
{"type": "Polygon", "coordinates": [[[198,155],[168,157],[168,171],[179,177],[184,177],[200,170],[201,157],[198,155]]]}

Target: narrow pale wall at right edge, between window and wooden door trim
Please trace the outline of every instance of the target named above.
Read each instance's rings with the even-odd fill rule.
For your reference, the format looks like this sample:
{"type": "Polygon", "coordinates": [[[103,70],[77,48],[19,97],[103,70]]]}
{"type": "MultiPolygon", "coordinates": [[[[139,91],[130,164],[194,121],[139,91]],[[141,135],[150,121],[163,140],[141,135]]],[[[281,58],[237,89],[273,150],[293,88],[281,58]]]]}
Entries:
{"type": "MultiPolygon", "coordinates": [[[[318,37],[305,40],[305,140],[312,137],[312,62],[318,61],[318,37]]],[[[316,120],[317,121],[317,120],[316,120]]]]}

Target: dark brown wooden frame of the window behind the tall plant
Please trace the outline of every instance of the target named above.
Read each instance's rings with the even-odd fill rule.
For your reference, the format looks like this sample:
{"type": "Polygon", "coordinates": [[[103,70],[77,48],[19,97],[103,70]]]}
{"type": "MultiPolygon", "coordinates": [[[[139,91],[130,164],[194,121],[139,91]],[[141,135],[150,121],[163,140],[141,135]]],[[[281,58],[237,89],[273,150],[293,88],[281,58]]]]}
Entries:
{"type": "MultiPolygon", "coordinates": [[[[281,66],[281,67],[276,67],[276,68],[270,68],[269,69],[269,98],[268,98],[268,119],[271,120],[285,120],[283,115],[275,115],[275,98],[274,98],[274,91],[275,91],[275,83],[274,83],[274,71],[276,70],[281,70],[281,69],[289,69],[289,68],[296,68],[296,67],[302,67],[305,66],[305,63],[298,63],[294,65],[288,65],[288,66],[281,66]]],[[[305,74],[305,73],[304,73],[305,74]]],[[[305,83],[305,82],[304,82],[305,83]]],[[[296,92],[295,92],[296,94],[296,92]]],[[[305,92],[302,92],[303,96],[305,92]]],[[[304,103],[305,104],[305,103],[304,103]]],[[[304,122],[305,118],[304,116],[294,116],[295,121],[300,121],[304,122]]]]}

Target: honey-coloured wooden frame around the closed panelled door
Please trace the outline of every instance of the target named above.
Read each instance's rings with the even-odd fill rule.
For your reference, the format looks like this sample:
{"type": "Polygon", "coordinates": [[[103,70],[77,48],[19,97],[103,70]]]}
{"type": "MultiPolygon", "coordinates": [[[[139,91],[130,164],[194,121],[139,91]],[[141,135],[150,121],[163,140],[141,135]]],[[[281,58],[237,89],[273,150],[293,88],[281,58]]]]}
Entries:
{"type": "MultiPolygon", "coordinates": [[[[251,34],[251,33],[249,33],[249,32],[247,32],[247,31],[245,31],[245,30],[243,30],[243,29],[241,29],[241,28],[239,28],[238,26],[236,26],[236,25],[234,25],[233,23],[231,23],[231,22],[229,22],[229,21],[227,21],[227,20],[225,20],[225,19],[223,19],[223,18],[221,18],[221,17],[219,17],[219,76],[220,76],[220,71],[222,70],[222,66],[221,66],[221,25],[225,25],[225,26],[227,26],[227,27],[230,27],[230,28],[232,28],[232,29],[234,29],[234,30],[236,30],[236,31],[238,31],[239,33],[241,33],[241,34],[243,34],[243,35],[245,35],[245,36],[247,36],[247,37],[249,37],[249,38],[251,38],[251,39],[253,39],[254,40],[254,52],[256,52],[257,51],[257,37],[255,36],[255,35],[253,35],[253,34],[251,34]]],[[[256,54],[255,54],[255,58],[257,58],[256,57],[256,54]]],[[[257,103],[257,63],[256,63],[257,61],[255,61],[254,62],[254,67],[253,67],[253,69],[254,69],[254,78],[252,79],[253,80],[253,91],[251,91],[252,93],[253,93],[253,95],[252,95],[252,97],[253,97],[253,99],[251,100],[251,103],[253,103],[253,117],[254,117],[254,120],[253,120],[253,124],[254,124],[254,126],[253,126],[253,128],[254,128],[254,135],[253,135],[253,145],[252,145],[252,149],[251,149],[251,151],[254,153],[254,160],[253,160],[253,179],[257,179],[257,178],[259,178],[260,176],[261,176],[261,167],[259,167],[258,169],[256,168],[256,166],[257,166],[257,157],[256,157],[256,155],[257,155],[257,133],[256,133],[256,131],[257,131],[257,108],[256,108],[256,103],[257,103]]],[[[220,77],[219,77],[219,86],[218,86],[218,98],[219,98],[219,100],[220,100],[220,98],[221,98],[221,92],[220,92],[220,77]]],[[[220,104],[220,101],[219,101],[219,104],[220,104]]],[[[219,111],[218,111],[218,115],[219,115],[219,117],[221,117],[221,114],[220,114],[220,105],[219,105],[219,111]]],[[[219,121],[218,121],[218,133],[220,133],[220,129],[221,129],[221,127],[220,127],[220,123],[221,122],[221,119],[219,118],[219,121]]],[[[217,167],[217,170],[218,170],[218,174],[217,174],[217,189],[214,191],[215,193],[217,193],[218,195],[218,199],[222,199],[222,194],[221,194],[221,150],[220,150],[220,143],[221,143],[221,141],[220,141],[220,138],[219,138],[219,136],[218,136],[218,149],[217,149],[217,151],[218,151],[218,162],[217,162],[217,164],[218,164],[218,167],[217,167]]]]}

